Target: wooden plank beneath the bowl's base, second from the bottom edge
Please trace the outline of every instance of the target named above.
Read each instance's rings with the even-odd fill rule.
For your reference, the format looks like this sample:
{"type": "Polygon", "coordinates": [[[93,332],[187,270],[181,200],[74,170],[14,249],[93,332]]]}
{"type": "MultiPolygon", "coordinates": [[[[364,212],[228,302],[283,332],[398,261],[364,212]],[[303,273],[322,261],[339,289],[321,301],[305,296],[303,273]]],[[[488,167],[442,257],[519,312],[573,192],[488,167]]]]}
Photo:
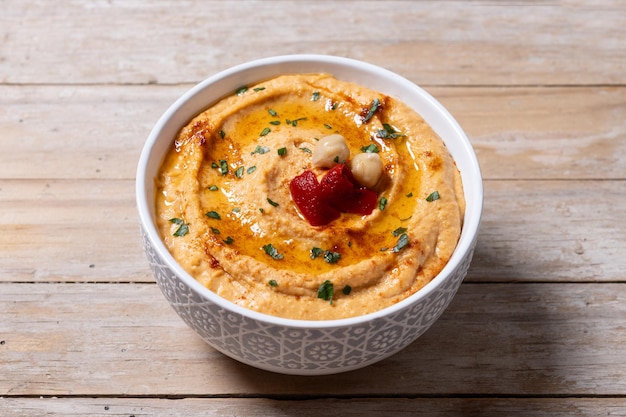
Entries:
{"type": "Polygon", "coordinates": [[[402,352],[324,377],[273,374],[226,358],[183,324],[154,284],[0,288],[0,396],[504,398],[626,392],[626,284],[466,283],[440,320],[402,352]]]}

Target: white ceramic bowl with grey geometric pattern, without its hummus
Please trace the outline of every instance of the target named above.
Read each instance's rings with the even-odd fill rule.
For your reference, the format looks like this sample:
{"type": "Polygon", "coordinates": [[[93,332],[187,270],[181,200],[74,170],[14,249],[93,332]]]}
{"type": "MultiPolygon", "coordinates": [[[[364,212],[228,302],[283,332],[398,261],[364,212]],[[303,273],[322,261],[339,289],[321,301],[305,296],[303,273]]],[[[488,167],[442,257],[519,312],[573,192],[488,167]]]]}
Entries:
{"type": "Polygon", "coordinates": [[[210,346],[256,368],[297,375],[350,371],[405,348],[436,322],[453,299],[472,259],[483,190],[474,150],[454,118],[411,81],[384,68],[342,57],[289,55],[222,71],[180,97],[161,116],[142,150],[136,178],[142,242],[155,280],[182,320],[210,346]],[[374,313],[337,320],[285,319],[240,307],[185,272],[155,225],[155,177],[178,131],[242,85],[282,74],[326,72],[394,96],[416,110],[443,139],[461,173],[466,199],[462,233],[443,270],[412,296],[374,313]]]}

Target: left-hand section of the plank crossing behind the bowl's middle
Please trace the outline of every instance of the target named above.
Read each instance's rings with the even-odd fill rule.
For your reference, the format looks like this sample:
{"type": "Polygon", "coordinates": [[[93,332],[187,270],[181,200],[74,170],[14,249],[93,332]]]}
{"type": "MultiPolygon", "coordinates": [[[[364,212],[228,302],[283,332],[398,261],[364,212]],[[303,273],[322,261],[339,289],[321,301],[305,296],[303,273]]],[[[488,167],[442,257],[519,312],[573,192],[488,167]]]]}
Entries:
{"type": "Polygon", "coordinates": [[[131,180],[0,182],[0,281],[153,282],[131,180]]]}

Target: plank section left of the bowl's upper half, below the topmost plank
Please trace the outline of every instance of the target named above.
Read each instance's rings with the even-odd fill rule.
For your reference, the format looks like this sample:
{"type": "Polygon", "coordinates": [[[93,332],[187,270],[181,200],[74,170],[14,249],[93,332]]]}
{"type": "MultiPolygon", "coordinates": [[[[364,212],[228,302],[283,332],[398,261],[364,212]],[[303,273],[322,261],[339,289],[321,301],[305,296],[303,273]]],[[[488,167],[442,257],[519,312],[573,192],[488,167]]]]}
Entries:
{"type": "Polygon", "coordinates": [[[134,178],[152,126],[189,87],[0,87],[0,178],[134,178]]]}

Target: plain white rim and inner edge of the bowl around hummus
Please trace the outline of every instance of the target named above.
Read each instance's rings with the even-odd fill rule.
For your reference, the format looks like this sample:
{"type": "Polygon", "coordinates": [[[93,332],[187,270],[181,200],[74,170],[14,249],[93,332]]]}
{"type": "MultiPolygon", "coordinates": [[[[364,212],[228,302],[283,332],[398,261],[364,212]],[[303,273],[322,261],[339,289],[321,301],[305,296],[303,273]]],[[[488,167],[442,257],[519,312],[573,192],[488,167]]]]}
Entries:
{"type": "MultiPolygon", "coordinates": [[[[339,78],[345,79],[346,77],[339,78]]],[[[421,87],[394,72],[363,61],[331,55],[282,55],[257,59],[223,70],[198,83],[165,111],[150,132],[139,158],[135,185],[136,204],[141,227],[166,266],[185,285],[208,301],[233,313],[266,324],[299,329],[359,325],[393,315],[424,299],[446,282],[467,256],[471,256],[478,235],[483,208],[482,175],[476,153],[467,135],[448,110],[421,87]],[[297,70],[298,68],[300,70],[297,70]],[[164,155],[164,149],[170,146],[175,134],[188,120],[237,87],[279,74],[305,72],[302,70],[305,68],[307,69],[306,72],[328,72],[331,74],[333,69],[343,72],[353,71],[356,78],[353,80],[354,82],[366,86],[381,84],[379,87],[372,88],[395,96],[411,107],[420,106],[418,112],[444,140],[461,172],[466,198],[465,217],[459,242],[447,265],[431,282],[410,297],[382,310],[361,316],[336,320],[296,320],[259,313],[241,307],[211,292],[187,273],[166,248],[154,222],[154,177],[149,174],[149,171],[154,164],[160,166],[161,160],[154,161],[153,153],[159,154],[160,152],[160,155],[164,155]],[[213,99],[207,102],[205,96],[209,89],[211,89],[213,99]],[[392,91],[390,92],[390,90],[392,91]],[[450,146],[451,144],[454,146],[450,146]]]]}

